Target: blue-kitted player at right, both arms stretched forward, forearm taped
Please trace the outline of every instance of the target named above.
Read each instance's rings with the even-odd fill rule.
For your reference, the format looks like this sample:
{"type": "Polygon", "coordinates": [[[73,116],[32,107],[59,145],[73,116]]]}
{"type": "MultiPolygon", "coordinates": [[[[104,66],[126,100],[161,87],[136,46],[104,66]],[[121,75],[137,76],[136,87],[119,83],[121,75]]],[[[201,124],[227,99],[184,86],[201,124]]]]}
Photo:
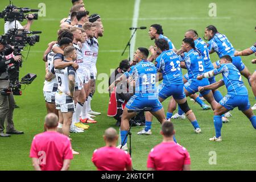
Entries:
{"type": "Polygon", "coordinates": [[[221,138],[221,115],[226,113],[229,110],[238,107],[239,110],[250,119],[251,125],[256,129],[256,116],[253,114],[253,111],[250,108],[250,102],[248,98],[248,91],[243,84],[241,73],[238,69],[232,64],[232,57],[229,55],[224,55],[220,59],[220,63],[216,62],[218,67],[212,71],[203,73],[202,75],[197,76],[197,80],[202,80],[204,78],[213,77],[222,73],[222,80],[215,82],[214,84],[199,86],[199,91],[203,92],[209,89],[217,89],[220,86],[225,85],[228,90],[228,94],[218,103],[217,107],[214,109],[214,127],[216,135],[213,138],[210,138],[211,141],[220,142],[221,138]]]}

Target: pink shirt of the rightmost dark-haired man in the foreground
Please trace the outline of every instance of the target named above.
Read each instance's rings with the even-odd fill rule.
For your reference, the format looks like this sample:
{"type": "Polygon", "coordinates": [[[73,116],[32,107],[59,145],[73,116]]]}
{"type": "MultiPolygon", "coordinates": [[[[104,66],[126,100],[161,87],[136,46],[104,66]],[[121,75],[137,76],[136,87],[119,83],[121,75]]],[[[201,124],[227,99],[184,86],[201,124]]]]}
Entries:
{"type": "Polygon", "coordinates": [[[157,171],[182,171],[190,164],[188,151],[175,142],[162,142],[148,154],[147,167],[157,171]]]}

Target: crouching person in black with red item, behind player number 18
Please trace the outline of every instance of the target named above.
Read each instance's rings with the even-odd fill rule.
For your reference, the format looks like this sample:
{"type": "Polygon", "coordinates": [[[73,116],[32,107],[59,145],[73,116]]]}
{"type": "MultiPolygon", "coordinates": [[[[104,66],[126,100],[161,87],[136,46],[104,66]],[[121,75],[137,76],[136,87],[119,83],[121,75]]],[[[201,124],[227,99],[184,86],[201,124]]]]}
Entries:
{"type": "MultiPolygon", "coordinates": [[[[119,67],[115,69],[115,71],[110,75],[109,78],[109,85],[111,85],[115,79],[122,76],[123,73],[125,73],[130,68],[129,60],[122,60],[119,63],[119,67]]],[[[121,123],[121,117],[123,114],[123,107],[125,106],[126,102],[128,102],[132,96],[132,94],[129,93],[127,90],[127,86],[124,85],[126,83],[122,83],[117,85],[117,89],[115,90],[115,93],[109,93],[110,102],[109,102],[109,116],[113,116],[117,122],[115,123],[115,126],[120,126],[121,123]],[[115,105],[116,103],[116,105],[115,105]],[[113,112],[113,113],[112,113],[113,112]]],[[[133,126],[144,126],[144,112],[142,111],[139,113],[133,120],[133,123],[131,125],[133,126]]]]}

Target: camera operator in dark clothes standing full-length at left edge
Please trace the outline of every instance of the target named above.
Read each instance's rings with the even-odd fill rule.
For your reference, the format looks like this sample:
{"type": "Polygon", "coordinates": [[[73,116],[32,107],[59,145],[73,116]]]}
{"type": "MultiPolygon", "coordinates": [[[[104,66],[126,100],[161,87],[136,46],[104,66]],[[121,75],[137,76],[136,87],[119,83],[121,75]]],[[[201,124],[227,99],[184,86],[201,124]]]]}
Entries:
{"type": "Polygon", "coordinates": [[[7,55],[13,52],[13,49],[10,45],[2,42],[2,36],[0,36],[0,90],[1,92],[5,91],[9,95],[0,94],[0,137],[10,137],[10,134],[23,134],[23,131],[17,131],[14,128],[13,123],[13,110],[15,107],[13,93],[9,88],[10,82],[7,73],[7,65],[10,63],[15,63],[15,61],[20,61],[21,56],[13,56],[10,59],[6,60],[7,55]],[[3,133],[5,129],[5,120],[6,120],[6,134],[3,133]]]}

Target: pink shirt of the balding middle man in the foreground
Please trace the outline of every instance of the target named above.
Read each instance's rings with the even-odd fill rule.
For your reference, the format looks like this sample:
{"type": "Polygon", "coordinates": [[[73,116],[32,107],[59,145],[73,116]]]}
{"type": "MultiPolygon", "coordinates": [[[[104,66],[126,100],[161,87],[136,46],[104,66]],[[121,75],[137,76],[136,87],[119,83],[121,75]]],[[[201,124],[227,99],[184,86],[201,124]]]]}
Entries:
{"type": "Polygon", "coordinates": [[[101,147],[94,150],[92,162],[98,171],[123,171],[131,166],[130,155],[116,147],[101,147]]]}

